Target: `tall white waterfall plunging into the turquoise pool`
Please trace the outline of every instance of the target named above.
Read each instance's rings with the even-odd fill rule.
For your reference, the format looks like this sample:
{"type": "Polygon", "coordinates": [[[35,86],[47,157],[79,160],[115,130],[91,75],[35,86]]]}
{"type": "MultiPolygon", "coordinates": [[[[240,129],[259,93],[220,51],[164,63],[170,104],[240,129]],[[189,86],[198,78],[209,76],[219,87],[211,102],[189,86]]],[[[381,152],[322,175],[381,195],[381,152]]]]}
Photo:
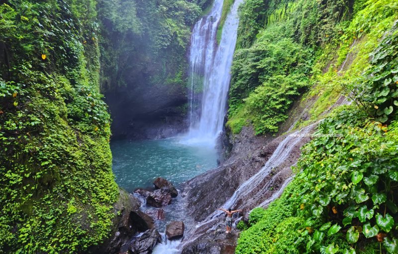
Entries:
{"type": "Polygon", "coordinates": [[[214,0],[210,13],[193,29],[190,48],[190,129],[188,140],[215,144],[223,130],[231,81],[231,65],[239,23],[238,7],[244,0],[235,0],[222,29],[217,45],[217,28],[223,0],[214,0]],[[201,98],[198,90],[202,90],[201,98]]]}

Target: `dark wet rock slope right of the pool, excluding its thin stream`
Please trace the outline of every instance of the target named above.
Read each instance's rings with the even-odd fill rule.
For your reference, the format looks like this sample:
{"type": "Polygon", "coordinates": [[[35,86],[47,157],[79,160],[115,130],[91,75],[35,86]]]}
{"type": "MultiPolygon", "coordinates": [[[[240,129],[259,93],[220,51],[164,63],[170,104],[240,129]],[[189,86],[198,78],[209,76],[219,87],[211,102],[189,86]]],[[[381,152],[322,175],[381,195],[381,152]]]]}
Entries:
{"type": "MultiPolygon", "coordinates": [[[[224,215],[214,211],[222,207],[234,195],[239,186],[258,173],[282,141],[287,138],[287,135],[273,140],[272,138],[256,137],[250,135],[252,131],[249,127],[242,131],[242,135],[237,137],[240,142],[233,149],[232,156],[217,169],[208,171],[186,183],[183,195],[188,202],[187,209],[190,210],[200,226],[187,234],[183,248],[184,254],[204,254],[209,253],[209,250],[212,250],[210,253],[219,254],[229,253],[228,250],[234,249],[237,232],[226,236],[222,234],[225,231],[224,215]]],[[[252,194],[242,199],[238,198],[234,207],[231,207],[243,210],[238,217],[247,217],[251,209],[278,194],[286,180],[292,175],[290,167],[296,163],[300,155],[299,148],[308,140],[308,137],[302,138],[295,143],[286,159],[273,168],[258,185],[252,186],[254,187],[251,191],[252,194]],[[261,195],[255,199],[250,198],[258,193],[261,195]]],[[[229,207],[224,208],[228,209],[229,207]]]]}

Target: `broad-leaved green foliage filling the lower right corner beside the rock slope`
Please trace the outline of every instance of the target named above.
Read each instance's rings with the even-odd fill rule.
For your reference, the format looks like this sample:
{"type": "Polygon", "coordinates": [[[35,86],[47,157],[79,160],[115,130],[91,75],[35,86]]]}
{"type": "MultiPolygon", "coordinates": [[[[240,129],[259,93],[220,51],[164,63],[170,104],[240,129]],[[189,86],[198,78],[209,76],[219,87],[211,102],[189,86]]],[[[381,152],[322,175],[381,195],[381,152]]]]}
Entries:
{"type": "Polygon", "coordinates": [[[237,253],[349,252],[350,244],[362,242],[358,253],[366,248],[360,246],[375,242],[379,232],[396,241],[397,211],[387,203],[398,198],[398,182],[391,177],[397,165],[398,122],[383,127],[354,107],[342,107],[315,134],[302,150],[296,179],[262,219],[241,234],[237,253]],[[293,218],[303,222],[290,229],[290,249],[279,243],[285,239],[275,236],[293,218]],[[256,240],[257,235],[264,239],[256,240]]]}

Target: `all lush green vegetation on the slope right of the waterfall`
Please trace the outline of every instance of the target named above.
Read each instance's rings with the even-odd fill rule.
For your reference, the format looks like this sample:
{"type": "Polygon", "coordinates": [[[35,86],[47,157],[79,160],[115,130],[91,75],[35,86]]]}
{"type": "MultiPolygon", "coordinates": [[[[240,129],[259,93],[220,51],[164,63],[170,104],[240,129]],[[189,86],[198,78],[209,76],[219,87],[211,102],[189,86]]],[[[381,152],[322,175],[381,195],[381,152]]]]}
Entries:
{"type": "Polygon", "coordinates": [[[306,90],[302,102],[316,101],[297,126],[319,119],[340,94],[353,103],[319,124],[282,197],[239,225],[236,253],[398,253],[397,19],[395,0],[246,1],[233,132],[248,124],[278,131],[306,90]]]}

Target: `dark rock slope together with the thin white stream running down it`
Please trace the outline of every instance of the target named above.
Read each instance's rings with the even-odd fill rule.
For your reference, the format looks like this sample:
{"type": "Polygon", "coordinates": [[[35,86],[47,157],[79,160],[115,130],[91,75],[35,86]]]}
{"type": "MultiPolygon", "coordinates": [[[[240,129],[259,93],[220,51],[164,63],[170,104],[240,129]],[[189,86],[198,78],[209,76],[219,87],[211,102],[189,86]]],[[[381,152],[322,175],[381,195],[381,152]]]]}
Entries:
{"type": "Polygon", "coordinates": [[[222,165],[184,184],[182,195],[197,226],[183,238],[183,254],[233,253],[238,232],[225,234],[225,216],[217,209],[243,210],[235,214],[238,220],[247,218],[255,207],[266,207],[279,197],[292,179],[291,166],[297,162],[300,147],[309,141],[304,134],[315,125],[305,127],[294,135],[282,135],[274,140],[256,137],[244,128],[237,149],[222,165]],[[301,136],[302,134],[302,136],[301,136]],[[244,149],[244,147],[247,147],[244,149]],[[237,216],[236,216],[237,215],[237,216]]]}

